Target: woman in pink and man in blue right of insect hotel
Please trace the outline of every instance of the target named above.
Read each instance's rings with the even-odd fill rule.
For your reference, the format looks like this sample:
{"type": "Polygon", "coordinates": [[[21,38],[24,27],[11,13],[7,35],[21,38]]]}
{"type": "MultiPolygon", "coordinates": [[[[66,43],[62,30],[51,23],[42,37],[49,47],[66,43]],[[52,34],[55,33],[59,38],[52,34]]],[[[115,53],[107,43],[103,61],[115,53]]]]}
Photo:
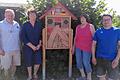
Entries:
{"type": "Polygon", "coordinates": [[[88,19],[87,15],[80,16],[81,24],[76,27],[73,46],[76,66],[82,78],[92,80],[92,62],[96,66],[98,80],[119,80],[120,29],[112,26],[109,14],[101,17],[103,27],[96,31],[88,19]]]}

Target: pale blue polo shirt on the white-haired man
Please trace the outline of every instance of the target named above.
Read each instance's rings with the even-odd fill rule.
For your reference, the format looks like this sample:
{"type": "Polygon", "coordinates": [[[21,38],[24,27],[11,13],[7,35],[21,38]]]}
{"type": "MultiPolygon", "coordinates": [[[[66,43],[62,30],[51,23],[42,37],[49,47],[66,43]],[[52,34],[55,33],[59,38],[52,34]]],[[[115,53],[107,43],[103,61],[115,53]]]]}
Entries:
{"type": "Polygon", "coordinates": [[[0,21],[1,45],[6,53],[20,50],[19,32],[20,26],[16,21],[13,21],[13,24],[8,23],[6,19],[0,21]]]}

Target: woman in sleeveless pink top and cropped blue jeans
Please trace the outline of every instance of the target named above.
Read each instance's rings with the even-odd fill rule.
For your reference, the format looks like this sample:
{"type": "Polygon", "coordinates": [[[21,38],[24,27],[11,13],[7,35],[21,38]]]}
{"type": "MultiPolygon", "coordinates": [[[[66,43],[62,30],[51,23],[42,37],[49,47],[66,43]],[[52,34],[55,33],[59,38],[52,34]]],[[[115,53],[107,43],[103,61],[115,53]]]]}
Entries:
{"type": "Polygon", "coordinates": [[[81,24],[76,27],[73,51],[75,48],[76,66],[80,70],[81,76],[87,78],[87,80],[91,80],[91,46],[95,29],[88,21],[86,14],[80,16],[81,24]]]}

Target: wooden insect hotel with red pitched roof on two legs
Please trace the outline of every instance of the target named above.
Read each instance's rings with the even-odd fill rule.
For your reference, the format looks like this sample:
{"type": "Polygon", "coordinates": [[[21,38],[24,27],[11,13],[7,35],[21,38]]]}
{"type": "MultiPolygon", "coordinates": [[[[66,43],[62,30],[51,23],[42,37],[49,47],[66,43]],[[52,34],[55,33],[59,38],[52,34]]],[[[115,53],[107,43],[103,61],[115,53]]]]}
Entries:
{"type": "Polygon", "coordinates": [[[47,49],[69,49],[69,71],[72,76],[72,40],[71,19],[77,18],[60,2],[49,9],[40,19],[45,18],[43,29],[43,80],[46,74],[46,50],[47,49]]]}

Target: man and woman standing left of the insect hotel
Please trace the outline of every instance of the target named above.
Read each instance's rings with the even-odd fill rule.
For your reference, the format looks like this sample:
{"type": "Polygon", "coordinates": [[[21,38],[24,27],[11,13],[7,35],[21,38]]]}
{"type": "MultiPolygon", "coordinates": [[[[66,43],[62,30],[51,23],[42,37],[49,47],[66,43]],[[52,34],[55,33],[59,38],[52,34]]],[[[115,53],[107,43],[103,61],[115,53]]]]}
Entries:
{"type": "Polygon", "coordinates": [[[41,64],[42,24],[36,20],[35,10],[30,9],[27,14],[28,21],[22,28],[14,21],[15,13],[12,9],[6,9],[4,20],[0,21],[0,65],[4,70],[5,80],[15,80],[16,66],[21,65],[21,42],[24,44],[23,55],[28,72],[27,80],[38,80],[37,71],[41,64]]]}

